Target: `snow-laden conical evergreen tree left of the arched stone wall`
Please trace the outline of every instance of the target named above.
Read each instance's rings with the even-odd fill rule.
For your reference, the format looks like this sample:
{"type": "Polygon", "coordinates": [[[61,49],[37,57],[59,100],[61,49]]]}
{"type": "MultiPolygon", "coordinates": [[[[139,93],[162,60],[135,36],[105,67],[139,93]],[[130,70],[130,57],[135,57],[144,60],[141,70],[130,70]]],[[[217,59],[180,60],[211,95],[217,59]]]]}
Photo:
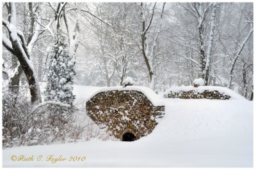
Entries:
{"type": "Polygon", "coordinates": [[[72,93],[75,60],[68,53],[68,45],[65,37],[58,34],[54,45],[49,52],[49,74],[47,74],[47,87],[45,90],[46,101],[59,101],[65,104],[73,104],[75,96],[72,93]]]}

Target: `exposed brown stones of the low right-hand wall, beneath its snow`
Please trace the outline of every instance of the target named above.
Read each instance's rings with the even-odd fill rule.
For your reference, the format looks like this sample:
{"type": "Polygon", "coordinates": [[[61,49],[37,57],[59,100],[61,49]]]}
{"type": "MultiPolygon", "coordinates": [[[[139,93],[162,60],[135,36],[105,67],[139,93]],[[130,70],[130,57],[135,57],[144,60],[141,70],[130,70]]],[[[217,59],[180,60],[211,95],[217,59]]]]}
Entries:
{"type": "Polygon", "coordinates": [[[179,98],[179,99],[219,99],[219,100],[228,100],[230,96],[218,92],[218,90],[203,90],[198,92],[198,90],[189,90],[184,91],[180,90],[179,92],[168,92],[164,94],[165,98],[179,98]]]}

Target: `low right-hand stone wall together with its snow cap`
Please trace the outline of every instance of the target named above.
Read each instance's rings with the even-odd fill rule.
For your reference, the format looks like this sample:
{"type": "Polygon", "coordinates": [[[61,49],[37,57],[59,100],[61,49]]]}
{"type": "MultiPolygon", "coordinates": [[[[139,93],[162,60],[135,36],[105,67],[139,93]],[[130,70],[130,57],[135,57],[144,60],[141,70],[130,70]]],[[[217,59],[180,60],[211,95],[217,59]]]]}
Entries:
{"type": "Polygon", "coordinates": [[[184,86],[172,87],[164,92],[165,98],[180,98],[180,99],[235,99],[245,100],[245,98],[233,90],[226,87],[217,86],[184,86]]]}

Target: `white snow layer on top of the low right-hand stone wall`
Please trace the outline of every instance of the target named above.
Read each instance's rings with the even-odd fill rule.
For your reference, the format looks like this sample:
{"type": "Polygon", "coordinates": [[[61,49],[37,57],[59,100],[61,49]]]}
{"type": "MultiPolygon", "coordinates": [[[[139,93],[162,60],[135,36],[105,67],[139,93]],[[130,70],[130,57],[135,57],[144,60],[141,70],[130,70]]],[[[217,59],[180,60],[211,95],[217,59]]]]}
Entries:
{"type": "Polygon", "coordinates": [[[179,93],[181,91],[190,91],[195,90],[195,92],[204,92],[205,90],[214,91],[217,90],[223,95],[230,96],[230,99],[234,100],[246,100],[243,96],[240,94],[237,94],[237,92],[234,92],[233,90],[228,89],[227,87],[218,87],[218,86],[199,86],[199,87],[193,87],[193,86],[182,86],[182,87],[172,87],[166,92],[164,92],[164,95],[168,95],[170,92],[176,92],[179,93]]]}

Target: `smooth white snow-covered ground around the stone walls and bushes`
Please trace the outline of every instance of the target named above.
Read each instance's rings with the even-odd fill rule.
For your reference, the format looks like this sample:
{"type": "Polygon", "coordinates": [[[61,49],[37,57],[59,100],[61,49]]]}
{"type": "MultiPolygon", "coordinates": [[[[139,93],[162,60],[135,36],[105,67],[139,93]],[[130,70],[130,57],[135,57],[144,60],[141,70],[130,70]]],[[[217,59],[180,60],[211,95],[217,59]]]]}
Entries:
{"type": "MultiPolygon", "coordinates": [[[[76,101],[99,87],[76,85],[76,101]]],[[[166,115],[134,142],[86,141],[3,150],[4,167],[252,167],[253,102],[161,99],[166,115]],[[18,161],[16,157],[32,157],[18,161]],[[53,155],[51,157],[51,155],[53,155]],[[16,156],[16,157],[15,157],[16,156]],[[51,158],[47,161],[47,157],[51,158]],[[63,161],[54,162],[62,157],[63,161]],[[69,161],[70,157],[86,157],[69,161]],[[66,158],[67,160],[65,160],[66,158]],[[15,161],[13,161],[13,160],[15,161]]],[[[59,159],[60,160],[60,159],[59,159]]]]}

